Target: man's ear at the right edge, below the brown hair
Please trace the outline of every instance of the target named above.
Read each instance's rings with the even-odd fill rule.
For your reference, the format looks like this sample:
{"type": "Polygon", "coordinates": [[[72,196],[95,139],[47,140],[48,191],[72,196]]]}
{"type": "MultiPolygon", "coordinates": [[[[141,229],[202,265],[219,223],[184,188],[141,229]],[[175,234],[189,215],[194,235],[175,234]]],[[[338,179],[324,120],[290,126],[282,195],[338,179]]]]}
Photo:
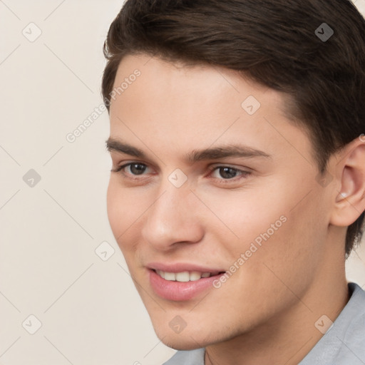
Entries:
{"type": "Polygon", "coordinates": [[[335,170],[339,184],[330,223],[346,227],[365,210],[365,135],[346,145],[337,161],[335,170]]]}

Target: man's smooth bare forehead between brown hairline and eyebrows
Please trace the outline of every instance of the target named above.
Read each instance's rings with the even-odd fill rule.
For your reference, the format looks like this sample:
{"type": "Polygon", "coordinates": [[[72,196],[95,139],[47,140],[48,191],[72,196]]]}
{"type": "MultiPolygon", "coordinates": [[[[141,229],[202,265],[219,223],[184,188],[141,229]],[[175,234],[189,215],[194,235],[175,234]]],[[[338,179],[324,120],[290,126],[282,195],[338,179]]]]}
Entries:
{"type": "Polygon", "coordinates": [[[215,143],[244,143],[274,155],[310,149],[303,130],[285,115],[287,96],[207,65],[125,56],[114,82],[110,135],[143,147],[186,153],[215,143]],[[133,76],[137,75],[138,76],[133,76]],[[118,89],[119,88],[119,89],[118,89]]]}

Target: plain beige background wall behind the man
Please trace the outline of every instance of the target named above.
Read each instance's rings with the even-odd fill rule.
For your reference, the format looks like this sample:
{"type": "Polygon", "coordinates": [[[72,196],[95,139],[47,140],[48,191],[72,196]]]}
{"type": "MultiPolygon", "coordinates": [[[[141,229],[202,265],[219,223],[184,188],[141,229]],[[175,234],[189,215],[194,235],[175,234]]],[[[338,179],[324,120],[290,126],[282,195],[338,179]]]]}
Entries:
{"type": "MultiPolygon", "coordinates": [[[[0,0],[4,365],[158,365],[175,352],[155,336],[108,225],[108,114],[66,140],[101,105],[102,45],[121,5],[0,0]]],[[[365,245],[347,274],[365,287],[365,245]]]]}

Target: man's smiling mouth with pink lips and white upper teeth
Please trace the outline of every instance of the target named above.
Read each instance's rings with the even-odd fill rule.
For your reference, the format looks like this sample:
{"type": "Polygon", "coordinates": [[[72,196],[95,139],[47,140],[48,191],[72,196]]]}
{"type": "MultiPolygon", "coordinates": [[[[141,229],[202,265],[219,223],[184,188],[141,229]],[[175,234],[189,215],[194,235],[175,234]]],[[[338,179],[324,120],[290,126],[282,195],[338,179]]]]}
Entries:
{"type": "MultiPolygon", "coordinates": [[[[171,269],[170,269],[171,270],[171,269]]],[[[165,300],[186,302],[207,295],[214,289],[213,283],[225,274],[225,271],[165,271],[148,269],[150,286],[155,294],[165,300]]]]}

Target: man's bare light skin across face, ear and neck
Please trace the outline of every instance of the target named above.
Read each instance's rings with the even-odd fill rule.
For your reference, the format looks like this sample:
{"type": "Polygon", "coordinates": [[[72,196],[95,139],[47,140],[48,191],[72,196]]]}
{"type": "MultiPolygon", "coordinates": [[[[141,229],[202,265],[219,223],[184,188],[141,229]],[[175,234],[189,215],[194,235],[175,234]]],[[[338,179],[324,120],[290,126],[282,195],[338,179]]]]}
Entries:
{"type": "Polygon", "coordinates": [[[156,334],[175,349],[206,347],[206,364],[297,364],[322,336],[317,320],[334,321],[349,299],[344,241],[365,209],[365,141],[331,156],[322,186],[306,131],[286,117],[287,96],[236,71],[143,54],[123,58],[114,85],[135,68],[140,76],[110,105],[110,138],[148,157],[110,148],[112,170],[132,162],[145,170],[110,173],[108,217],[156,334]],[[241,106],[248,96],[261,103],[253,115],[241,106]],[[270,158],[185,159],[230,143],[270,158]],[[219,166],[249,174],[210,170],[219,166]],[[181,187],[168,180],[177,168],[187,177],[181,187]],[[150,286],[149,262],[228,271],[281,216],[286,222],[219,289],[176,302],[150,286]],[[177,315],[186,322],[179,334],[169,326],[177,315]]]}

